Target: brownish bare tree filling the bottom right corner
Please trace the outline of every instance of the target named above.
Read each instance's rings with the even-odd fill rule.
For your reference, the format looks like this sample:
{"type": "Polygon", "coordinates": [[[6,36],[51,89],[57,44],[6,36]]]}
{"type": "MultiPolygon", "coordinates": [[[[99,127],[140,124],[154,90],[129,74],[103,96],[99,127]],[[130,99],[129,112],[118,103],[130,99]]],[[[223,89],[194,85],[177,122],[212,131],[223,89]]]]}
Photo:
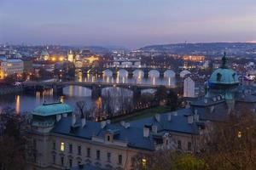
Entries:
{"type": "Polygon", "coordinates": [[[213,123],[201,153],[212,169],[255,169],[256,119],[247,107],[213,123]]]}

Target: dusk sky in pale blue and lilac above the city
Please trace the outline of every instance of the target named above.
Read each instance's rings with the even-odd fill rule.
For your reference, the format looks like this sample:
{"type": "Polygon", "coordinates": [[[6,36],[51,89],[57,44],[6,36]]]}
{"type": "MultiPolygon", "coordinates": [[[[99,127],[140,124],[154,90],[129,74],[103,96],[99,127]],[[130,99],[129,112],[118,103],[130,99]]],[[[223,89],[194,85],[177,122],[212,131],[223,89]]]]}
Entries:
{"type": "Polygon", "coordinates": [[[0,0],[0,43],[120,45],[256,40],[256,0],[0,0]]]}

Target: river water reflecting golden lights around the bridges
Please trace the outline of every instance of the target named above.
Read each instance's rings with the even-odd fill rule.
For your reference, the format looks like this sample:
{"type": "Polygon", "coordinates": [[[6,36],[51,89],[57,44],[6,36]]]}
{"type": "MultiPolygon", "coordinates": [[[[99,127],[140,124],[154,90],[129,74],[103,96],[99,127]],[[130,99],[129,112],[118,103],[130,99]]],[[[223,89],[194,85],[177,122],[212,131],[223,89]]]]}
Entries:
{"type": "MultiPolygon", "coordinates": [[[[121,70],[116,78],[112,77],[111,71],[105,71],[102,77],[97,76],[82,76],[77,75],[76,81],[78,82],[116,82],[116,83],[142,83],[142,84],[162,84],[167,86],[174,86],[176,83],[172,72],[166,73],[165,77],[160,78],[159,72],[151,71],[149,72],[148,78],[143,77],[142,71],[135,71],[132,78],[128,78],[128,72],[121,70]]],[[[103,89],[108,90],[108,89],[103,89]]],[[[145,92],[150,92],[150,89],[144,90],[145,92]]],[[[83,88],[79,86],[69,86],[63,88],[63,95],[54,95],[53,90],[45,90],[42,92],[36,92],[35,94],[26,94],[25,92],[20,94],[8,94],[0,96],[0,110],[5,107],[14,108],[16,112],[22,113],[26,111],[33,111],[38,105],[42,105],[44,102],[56,102],[62,101],[71,105],[73,109],[76,107],[77,101],[85,101],[86,105],[95,105],[97,99],[91,99],[91,91],[88,88],[83,88]]],[[[102,93],[104,94],[104,93],[102,93]]]]}

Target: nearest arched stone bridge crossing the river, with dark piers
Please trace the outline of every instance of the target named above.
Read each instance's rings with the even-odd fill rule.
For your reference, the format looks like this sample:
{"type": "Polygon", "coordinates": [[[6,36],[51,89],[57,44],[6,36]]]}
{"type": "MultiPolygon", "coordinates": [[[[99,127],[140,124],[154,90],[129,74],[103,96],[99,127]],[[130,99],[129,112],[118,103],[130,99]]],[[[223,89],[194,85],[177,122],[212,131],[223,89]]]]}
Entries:
{"type": "MultiPolygon", "coordinates": [[[[52,88],[54,94],[62,94],[63,88],[67,86],[81,86],[84,88],[90,88],[91,97],[97,98],[102,95],[102,88],[127,88],[133,91],[133,95],[140,95],[143,89],[159,88],[162,85],[156,84],[137,84],[137,83],[116,83],[116,82],[22,82],[23,88],[26,90],[44,90],[52,88]]],[[[166,90],[176,88],[176,86],[166,85],[166,90]]]]}

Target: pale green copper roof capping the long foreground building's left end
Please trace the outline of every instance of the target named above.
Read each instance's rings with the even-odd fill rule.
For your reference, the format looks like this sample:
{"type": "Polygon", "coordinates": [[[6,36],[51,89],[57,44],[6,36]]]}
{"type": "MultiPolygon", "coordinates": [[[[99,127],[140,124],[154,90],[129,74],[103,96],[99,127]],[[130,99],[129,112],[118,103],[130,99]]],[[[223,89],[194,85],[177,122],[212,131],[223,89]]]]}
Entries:
{"type": "Polygon", "coordinates": [[[53,103],[39,105],[34,111],[32,111],[32,114],[38,116],[53,116],[70,112],[73,112],[73,110],[69,105],[62,103],[53,103]]]}

